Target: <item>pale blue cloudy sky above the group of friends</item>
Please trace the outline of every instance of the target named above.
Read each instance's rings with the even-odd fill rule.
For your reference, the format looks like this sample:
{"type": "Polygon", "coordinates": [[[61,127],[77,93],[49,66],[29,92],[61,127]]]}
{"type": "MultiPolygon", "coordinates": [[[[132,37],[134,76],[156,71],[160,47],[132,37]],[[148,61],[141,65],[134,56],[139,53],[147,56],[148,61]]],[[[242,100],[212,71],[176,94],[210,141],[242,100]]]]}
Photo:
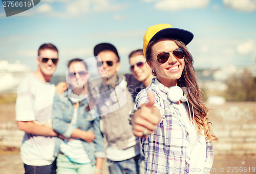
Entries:
{"type": "Polygon", "coordinates": [[[256,60],[256,0],[41,0],[6,17],[0,3],[0,60],[36,70],[40,45],[59,50],[55,74],[68,60],[93,57],[100,42],[116,46],[122,72],[128,55],[141,49],[148,27],[167,23],[194,34],[187,45],[196,69],[250,66],[256,60]]]}

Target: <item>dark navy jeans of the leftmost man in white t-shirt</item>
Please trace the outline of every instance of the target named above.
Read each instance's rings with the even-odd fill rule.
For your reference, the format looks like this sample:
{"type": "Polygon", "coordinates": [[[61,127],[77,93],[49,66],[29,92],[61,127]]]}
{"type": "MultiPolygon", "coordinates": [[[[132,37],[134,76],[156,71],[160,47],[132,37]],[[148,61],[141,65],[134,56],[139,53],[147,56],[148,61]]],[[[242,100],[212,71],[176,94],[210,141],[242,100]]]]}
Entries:
{"type": "Polygon", "coordinates": [[[50,165],[33,166],[24,164],[25,174],[56,174],[56,160],[50,165]]]}

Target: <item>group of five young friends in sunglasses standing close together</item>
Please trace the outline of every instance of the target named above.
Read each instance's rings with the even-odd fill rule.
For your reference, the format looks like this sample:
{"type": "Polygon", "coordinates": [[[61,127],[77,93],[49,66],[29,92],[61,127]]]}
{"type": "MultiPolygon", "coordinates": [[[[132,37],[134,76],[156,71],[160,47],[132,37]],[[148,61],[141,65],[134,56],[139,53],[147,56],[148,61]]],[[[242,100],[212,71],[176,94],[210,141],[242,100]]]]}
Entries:
{"type": "Polygon", "coordinates": [[[125,75],[117,48],[102,42],[93,50],[98,78],[87,59],[73,58],[56,86],[58,49],[41,45],[37,70],[17,91],[25,173],[97,174],[104,162],[111,174],[207,173],[217,137],[186,48],[193,37],[169,24],[149,27],[125,75]]]}

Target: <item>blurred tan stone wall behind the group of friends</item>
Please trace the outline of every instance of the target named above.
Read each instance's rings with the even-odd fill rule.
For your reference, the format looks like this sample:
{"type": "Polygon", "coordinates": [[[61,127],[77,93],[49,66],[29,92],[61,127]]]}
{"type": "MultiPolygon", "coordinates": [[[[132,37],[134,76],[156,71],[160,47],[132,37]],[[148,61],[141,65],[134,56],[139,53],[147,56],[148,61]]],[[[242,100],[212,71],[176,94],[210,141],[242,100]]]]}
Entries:
{"type": "MultiPolygon", "coordinates": [[[[215,155],[256,155],[256,102],[228,102],[209,105],[211,129],[219,138],[214,143],[215,155]]],[[[0,145],[20,147],[24,132],[16,122],[0,123],[0,145]]]]}

